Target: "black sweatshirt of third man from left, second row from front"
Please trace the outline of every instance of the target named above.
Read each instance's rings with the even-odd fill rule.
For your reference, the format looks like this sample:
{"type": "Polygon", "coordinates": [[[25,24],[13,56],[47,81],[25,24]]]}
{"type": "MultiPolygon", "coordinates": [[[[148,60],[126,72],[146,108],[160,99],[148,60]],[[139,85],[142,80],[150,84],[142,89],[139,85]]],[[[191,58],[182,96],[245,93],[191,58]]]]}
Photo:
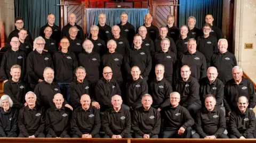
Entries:
{"type": "MultiPolygon", "coordinates": [[[[91,100],[94,101],[94,95],[92,94],[91,82],[86,79],[83,82],[73,81],[70,83],[70,102],[72,107],[77,108],[81,106],[80,99],[81,96],[87,94],[91,97],[91,100]]],[[[94,93],[94,92],[93,92],[94,93]]]]}

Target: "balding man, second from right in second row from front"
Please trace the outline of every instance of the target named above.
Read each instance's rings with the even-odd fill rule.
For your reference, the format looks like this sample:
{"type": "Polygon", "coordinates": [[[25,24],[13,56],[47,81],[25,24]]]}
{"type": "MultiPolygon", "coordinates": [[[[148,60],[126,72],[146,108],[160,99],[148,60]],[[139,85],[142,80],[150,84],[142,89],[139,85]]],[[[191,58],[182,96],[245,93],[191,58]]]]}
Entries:
{"type": "Polygon", "coordinates": [[[200,89],[199,95],[202,106],[204,105],[204,99],[206,95],[213,95],[216,100],[216,106],[220,107],[224,96],[224,85],[223,82],[217,78],[218,71],[215,67],[210,66],[207,70],[207,77],[199,81],[200,89]]]}

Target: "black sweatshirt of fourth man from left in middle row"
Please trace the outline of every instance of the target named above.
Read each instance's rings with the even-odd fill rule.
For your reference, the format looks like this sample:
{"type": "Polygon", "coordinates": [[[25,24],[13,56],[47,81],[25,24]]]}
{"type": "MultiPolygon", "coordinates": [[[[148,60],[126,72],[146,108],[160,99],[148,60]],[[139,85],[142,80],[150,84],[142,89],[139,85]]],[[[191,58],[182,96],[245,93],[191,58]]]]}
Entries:
{"type": "Polygon", "coordinates": [[[83,66],[86,70],[85,79],[91,83],[97,83],[100,79],[100,55],[96,52],[83,52],[78,55],[78,66],[83,66]]]}

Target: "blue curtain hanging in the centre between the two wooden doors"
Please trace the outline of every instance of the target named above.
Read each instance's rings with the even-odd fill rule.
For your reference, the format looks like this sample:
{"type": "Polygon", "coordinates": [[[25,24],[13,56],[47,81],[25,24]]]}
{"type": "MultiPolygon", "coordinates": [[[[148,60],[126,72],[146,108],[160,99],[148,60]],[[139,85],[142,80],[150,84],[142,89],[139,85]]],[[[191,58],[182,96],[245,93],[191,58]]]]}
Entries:
{"type": "Polygon", "coordinates": [[[144,23],[144,16],[148,13],[148,9],[85,9],[86,13],[86,33],[90,33],[90,27],[98,24],[99,13],[106,14],[106,24],[110,27],[121,22],[120,14],[128,13],[128,22],[131,23],[135,30],[144,23]]]}

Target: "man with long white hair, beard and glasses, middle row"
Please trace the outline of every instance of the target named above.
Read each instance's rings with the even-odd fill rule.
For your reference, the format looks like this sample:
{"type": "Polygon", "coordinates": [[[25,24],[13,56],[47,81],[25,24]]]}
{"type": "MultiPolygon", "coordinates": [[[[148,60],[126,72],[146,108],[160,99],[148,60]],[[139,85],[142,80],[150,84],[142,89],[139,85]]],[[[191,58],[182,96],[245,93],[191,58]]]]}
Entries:
{"type": "Polygon", "coordinates": [[[43,51],[45,40],[39,36],[34,41],[34,51],[27,57],[27,74],[30,89],[34,91],[37,83],[43,81],[43,72],[46,67],[53,69],[52,57],[48,52],[43,51]]]}

